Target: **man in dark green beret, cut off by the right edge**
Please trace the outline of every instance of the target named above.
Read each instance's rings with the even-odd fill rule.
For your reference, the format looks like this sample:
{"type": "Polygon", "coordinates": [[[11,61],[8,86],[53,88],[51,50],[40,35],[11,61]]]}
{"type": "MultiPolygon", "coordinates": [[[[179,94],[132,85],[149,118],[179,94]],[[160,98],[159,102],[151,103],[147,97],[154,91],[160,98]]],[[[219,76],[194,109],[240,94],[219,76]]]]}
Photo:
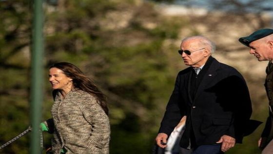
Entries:
{"type": "Polygon", "coordinates": [[[265,129],[258,141],[262,154],[273,154],[273,29],[259,29],[247,37],[242,37],[239,42],[250,47],[258,61],[269,61],[266,68],[265,88],[269,100],[269,117],[265,129]]]}

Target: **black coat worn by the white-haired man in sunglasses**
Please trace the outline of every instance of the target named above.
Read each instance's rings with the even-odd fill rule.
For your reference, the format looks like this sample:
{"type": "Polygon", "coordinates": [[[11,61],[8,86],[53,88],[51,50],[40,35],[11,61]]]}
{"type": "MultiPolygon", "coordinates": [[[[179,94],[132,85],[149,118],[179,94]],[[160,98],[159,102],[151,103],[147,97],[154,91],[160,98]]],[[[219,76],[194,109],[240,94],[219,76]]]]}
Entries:
{"type": "Polygon", "coordinates": [[[213,57],[208,59],[203,69],[200,73],[204,77],[194,99],[190,94],[193,68],[188,67],[178,73],[159,133],[169,136],[186,115],[181,147],[188,148],[190,132],[194,133],[197,146],[215,144],[224,134],[234,137],[236,143],[241,143],[252,113],[244,78],[235,68],[219,63],[213,57]]]}

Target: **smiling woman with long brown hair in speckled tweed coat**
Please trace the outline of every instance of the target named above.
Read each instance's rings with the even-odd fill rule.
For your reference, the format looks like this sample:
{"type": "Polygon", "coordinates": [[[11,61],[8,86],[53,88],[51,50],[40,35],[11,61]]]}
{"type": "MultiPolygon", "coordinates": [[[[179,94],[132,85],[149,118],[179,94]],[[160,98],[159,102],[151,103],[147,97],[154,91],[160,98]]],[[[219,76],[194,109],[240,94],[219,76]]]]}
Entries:
{"type": "Polygon", "coordinates": [[[54,154],[109,154],[110,124],[104,94],[71,63],[49,69],[53,90],[52,118],[41,123],[54,134],[54,154]]]}

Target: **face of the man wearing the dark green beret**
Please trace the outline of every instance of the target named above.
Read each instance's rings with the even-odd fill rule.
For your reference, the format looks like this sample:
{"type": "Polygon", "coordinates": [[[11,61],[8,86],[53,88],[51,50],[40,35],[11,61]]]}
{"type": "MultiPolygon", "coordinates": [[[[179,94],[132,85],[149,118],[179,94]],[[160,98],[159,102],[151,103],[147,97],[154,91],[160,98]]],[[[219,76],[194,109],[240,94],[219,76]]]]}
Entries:
{"type": "Polygon", "coordinates": [[[250,54],[253,54],[258,61],[272,61],[273,53],[270,46],[263,39],[253,41],[249,44],[250,54]]]}

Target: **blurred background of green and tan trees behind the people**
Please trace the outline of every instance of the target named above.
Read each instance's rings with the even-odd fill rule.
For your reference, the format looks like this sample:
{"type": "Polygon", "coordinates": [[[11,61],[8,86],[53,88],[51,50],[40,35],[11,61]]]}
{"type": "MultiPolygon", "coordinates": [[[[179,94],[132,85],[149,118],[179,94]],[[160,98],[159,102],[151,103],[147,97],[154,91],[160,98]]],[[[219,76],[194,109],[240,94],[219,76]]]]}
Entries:
{"type": "MultiPolygon", "coordinates": [[[[0,145],[30,125],[31,0],[0,0],[0,145]]],[[[215,42],[214,57],[245,77],[252,119],[265,122],[267,62],[237,40],[273,27],[272,0],[44,0],[44,101],[51,117],[48,67],[78,66],[108,97],[110,154],[151,154],[176,74],[186,68],[177,50],[184,37],[215,42]]],[[[260,154],[264,123],[226,154],[260,154]]],[[[50,134],[44,134],[50,145],[50,134]]],[[[0,150],[28,154],[30,133],[0,150]]]]}

